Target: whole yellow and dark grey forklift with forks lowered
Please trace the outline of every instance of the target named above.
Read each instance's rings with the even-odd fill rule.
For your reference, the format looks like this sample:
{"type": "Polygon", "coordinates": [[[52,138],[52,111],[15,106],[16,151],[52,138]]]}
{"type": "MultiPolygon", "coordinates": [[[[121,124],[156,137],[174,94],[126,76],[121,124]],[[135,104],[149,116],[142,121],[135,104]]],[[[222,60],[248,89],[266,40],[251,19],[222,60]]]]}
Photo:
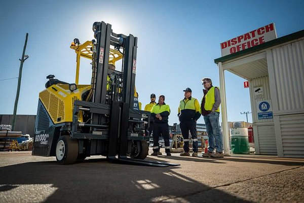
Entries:
{"type": "Polygon", "coordinates": [[[56,156],[71,164],[91,155],[111,162],[165,167],[173,163],[143,160],[148,154],[150,113],[134,108],[137,38],[112,31],[105,22],[93,24],[94,40],[74,39],[75,83],[47,76],[39,94],[32,155],[56,156]],[[80,85],[81,57],[92,62],[90,85],[80,85]],[[122,60],[121,71],[109,69],[122,60]]]}

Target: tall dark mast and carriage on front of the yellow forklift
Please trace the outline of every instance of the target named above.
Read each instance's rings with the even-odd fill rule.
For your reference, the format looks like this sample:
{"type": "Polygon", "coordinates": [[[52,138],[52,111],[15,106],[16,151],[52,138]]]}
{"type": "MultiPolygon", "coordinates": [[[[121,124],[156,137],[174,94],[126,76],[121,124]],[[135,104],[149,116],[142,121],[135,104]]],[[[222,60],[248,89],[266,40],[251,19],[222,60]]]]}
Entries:
{"type": "Polygon", "coordinates": [[[92,40],[91,48],[93,73],[89,95],[92,97],[74,101],[72,138],[106,139],[107,157],[117,154],[126,157],[131,149],[128,141],[149,140],[146,134],[149,112],[133,109],[137,38],[116,34],[105,22],[95,22],[92,29],[96,39],[92,40]],[[110,47],[122,55],[122,72],[108,69],[109,55],[113,51],[110,47]],[[79,122],[80,111],[85,112],[82,123],[79,122]]]}

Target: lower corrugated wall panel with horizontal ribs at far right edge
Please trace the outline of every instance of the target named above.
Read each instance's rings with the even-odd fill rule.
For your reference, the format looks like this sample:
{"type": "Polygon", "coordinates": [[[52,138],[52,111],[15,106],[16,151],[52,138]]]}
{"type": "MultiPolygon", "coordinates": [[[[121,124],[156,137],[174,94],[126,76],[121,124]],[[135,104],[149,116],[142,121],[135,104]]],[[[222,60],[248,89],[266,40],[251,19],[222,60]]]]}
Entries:
{"type": "Polygon", "coordinates": [[[304,114],[280,116],[284,157],[304,157],[304,114]]]}

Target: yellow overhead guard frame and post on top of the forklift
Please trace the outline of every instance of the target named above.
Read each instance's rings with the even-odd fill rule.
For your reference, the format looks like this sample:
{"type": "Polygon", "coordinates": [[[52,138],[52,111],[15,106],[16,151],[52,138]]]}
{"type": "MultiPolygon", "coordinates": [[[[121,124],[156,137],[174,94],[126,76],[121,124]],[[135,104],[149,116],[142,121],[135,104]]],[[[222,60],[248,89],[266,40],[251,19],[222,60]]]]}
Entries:
{"type": "MultiPolygon", "coordinates": [[[[77,54],[77,60],[76,60],[76,76],[75,76],[75,84],[78,85],[79,82],[79,69],[80,69],[80,57],[85,57],[88,59],[93,58],[93,51],[92,48],[93,43],[91,41],[87,41],[82,45],[75,45],[74,43],[71,44],[70,48],[75,50],[75,53],[77,54]]],[[[123,54],[121,54],[119,51],[115,49],[110,48],[109,53],[109,63],[115,65],[115,62],[122,59],[123,54]]]]}

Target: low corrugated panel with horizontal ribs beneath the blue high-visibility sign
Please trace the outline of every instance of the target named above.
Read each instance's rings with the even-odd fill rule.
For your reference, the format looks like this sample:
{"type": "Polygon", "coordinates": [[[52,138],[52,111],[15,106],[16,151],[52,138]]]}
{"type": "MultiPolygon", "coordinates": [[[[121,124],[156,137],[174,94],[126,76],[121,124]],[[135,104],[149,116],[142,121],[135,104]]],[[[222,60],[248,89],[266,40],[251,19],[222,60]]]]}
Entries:
{"type": "Polygon", "coordinates": [[[257,126],[259,154],[277,155],[275,125],[257,126]]]}

